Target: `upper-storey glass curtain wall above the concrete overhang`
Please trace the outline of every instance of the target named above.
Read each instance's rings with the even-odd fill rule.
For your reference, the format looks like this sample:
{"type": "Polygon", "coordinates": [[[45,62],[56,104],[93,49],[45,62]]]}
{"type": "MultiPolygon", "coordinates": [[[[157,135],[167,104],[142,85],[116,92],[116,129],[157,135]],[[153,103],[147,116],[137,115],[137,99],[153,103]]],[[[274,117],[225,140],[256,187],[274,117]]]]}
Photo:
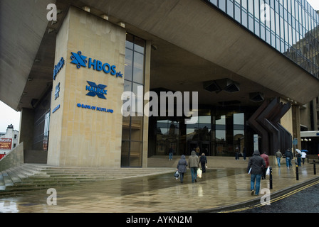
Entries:
{"type": "Polygon", "coordinates": [[[204,0],[319,77],[319,15],[305,0],[204,0]]]}

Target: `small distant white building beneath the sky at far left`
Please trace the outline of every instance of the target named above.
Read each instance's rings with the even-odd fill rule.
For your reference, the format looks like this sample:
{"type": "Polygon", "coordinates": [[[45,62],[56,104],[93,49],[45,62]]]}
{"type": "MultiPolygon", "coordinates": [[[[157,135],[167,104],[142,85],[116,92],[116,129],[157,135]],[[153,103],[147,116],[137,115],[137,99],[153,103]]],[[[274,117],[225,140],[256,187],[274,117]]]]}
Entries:
{"type": "Polygon", "coordinates": [[[16,148],[18,141],[19,131],[14,130],[14,126],[11,124],[6,128],[6,133],[0,135],[0,155],[16,148]]]}

